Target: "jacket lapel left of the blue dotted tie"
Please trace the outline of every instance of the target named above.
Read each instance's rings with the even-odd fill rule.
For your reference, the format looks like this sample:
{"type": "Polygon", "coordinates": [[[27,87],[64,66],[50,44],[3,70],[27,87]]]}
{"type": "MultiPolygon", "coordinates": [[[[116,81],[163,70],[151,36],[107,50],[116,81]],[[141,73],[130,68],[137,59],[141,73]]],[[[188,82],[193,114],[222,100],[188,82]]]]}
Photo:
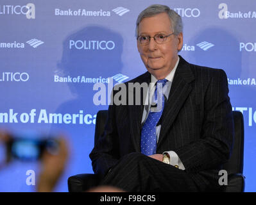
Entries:
{"type": "MultiPolygon", "coordinates": [[[[149,72],[146,72],[141,76],[141,78],[138,78],[136,81],[133,83],[147,83],[149,85],[150,82],[150,77],[151,75],[149,72]]],[[[143,90],[141,89],[141,103],[139,105],[135,104],[135,89],[130,90],[128,86],[128,97],[129,93],[133,95],[133,104],[128,105],[128,113],[129,113],[129,121],[130,121],[130,133],[131,133],[131,138],[133,142],[133,146],[135,147],[136,152],[141,151],[141,120],[142,120],[142,114],[144,110],[144,95],[145,92],[142,92],[143,90]]]]}

